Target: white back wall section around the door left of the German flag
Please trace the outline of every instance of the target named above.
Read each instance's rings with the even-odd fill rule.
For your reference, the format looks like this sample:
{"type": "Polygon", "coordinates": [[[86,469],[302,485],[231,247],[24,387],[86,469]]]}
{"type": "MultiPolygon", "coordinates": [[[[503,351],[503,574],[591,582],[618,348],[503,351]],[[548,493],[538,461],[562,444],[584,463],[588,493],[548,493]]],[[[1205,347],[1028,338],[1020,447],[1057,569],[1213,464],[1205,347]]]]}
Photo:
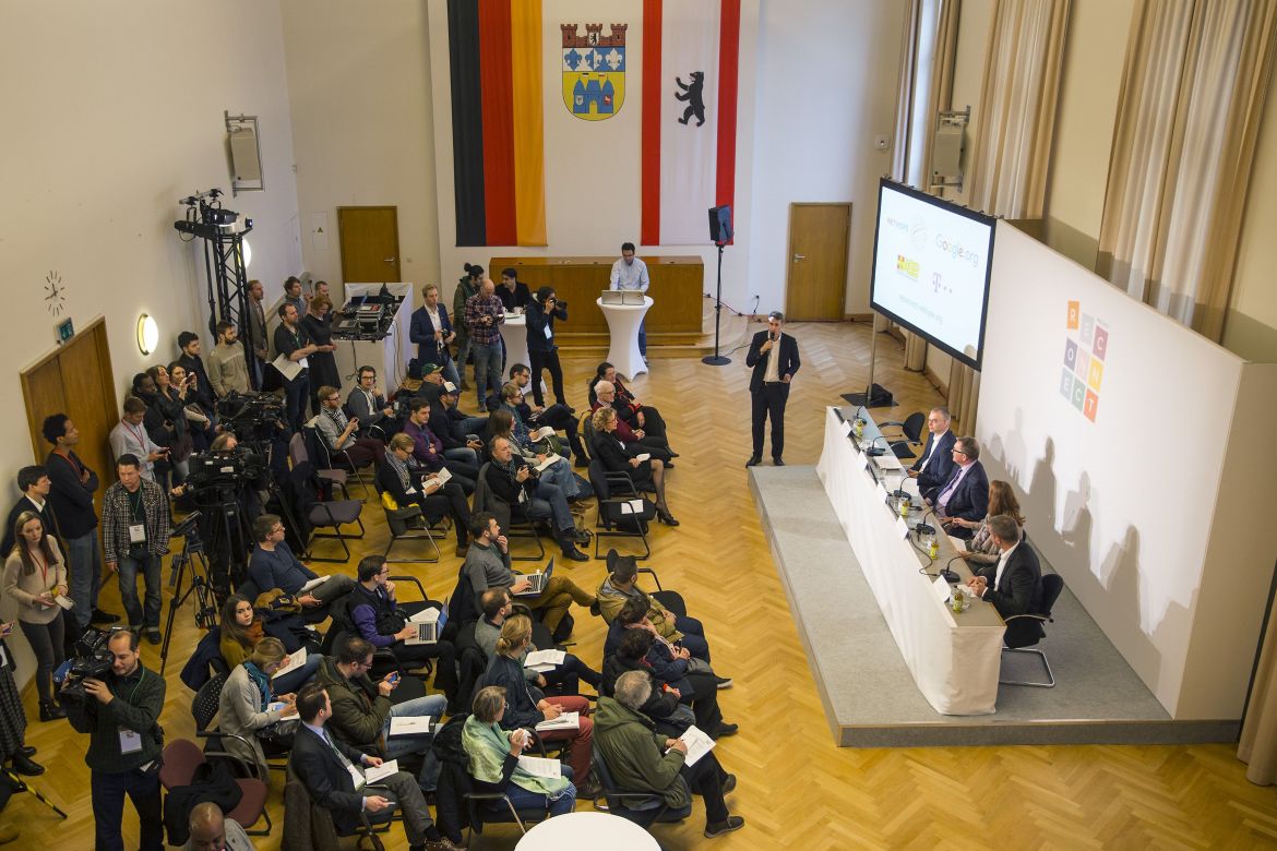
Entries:
{"type": "Polygon", "coordinates": [[[337,207],[395,205],[400,277],[439,282],[427,4],[381,0],[373,13],[281,0],[281,9],[305,268],[340,283],[337,207]]]}

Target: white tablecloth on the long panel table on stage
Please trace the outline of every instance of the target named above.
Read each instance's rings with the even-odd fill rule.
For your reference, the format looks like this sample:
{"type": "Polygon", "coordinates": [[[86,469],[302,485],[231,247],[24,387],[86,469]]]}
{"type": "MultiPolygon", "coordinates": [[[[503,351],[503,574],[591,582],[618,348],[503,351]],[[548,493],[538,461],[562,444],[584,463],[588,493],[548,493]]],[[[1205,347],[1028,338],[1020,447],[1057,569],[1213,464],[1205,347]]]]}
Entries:
{"type": "MultiPolygon", "coordinates": [[[[852,413],[847,416],[850,420],[852,413]]],[[[870,418],[865,412],[861,416],[870,418]]],[[[871,421],[866,426],[866,443],[876,434],[871,421]]],[[[885,444],[879,440],[877,445],[885,444]]],[[[903,477],[890,476],[886,486],[880,486],[866,470],[867,461],[847,436],[836,410],[829,408],[825,449],[816,471],[913,681],[941,714],[995,712],[1002,619],[991,605],[978,600],[960,615],[940,601],[931,586],[933,581],[918,573],[927,559],[902,536],[898,515],[885,504],[886,491],[894,490],[903,477]]],[[[895,459],[882,461],[893,466],[895,459]]],[[[904,478],[904,489],[913,495],[914,504],[921,501],[913,480],[904,478]]],[[[928,523],[940,531],[935,519],[928,523]]],[[[942,568],[953,555],[953,546],[941,533],[940,558],[930,573],[942,568]]],[[[964,581],[971,575],[962,561],[950,569],[964,581]]]]}

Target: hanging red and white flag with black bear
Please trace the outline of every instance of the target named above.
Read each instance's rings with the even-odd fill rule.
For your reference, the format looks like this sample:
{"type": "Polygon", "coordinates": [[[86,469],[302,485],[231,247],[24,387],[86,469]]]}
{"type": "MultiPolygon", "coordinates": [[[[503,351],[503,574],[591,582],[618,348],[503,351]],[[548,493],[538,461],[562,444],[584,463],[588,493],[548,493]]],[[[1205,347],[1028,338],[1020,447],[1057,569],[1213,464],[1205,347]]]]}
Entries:
{"type": "Polygon", "coordinates": [[[642,33],[642,244],[705,244],[734,203],[741,0],[644,0],[642,33]]]}

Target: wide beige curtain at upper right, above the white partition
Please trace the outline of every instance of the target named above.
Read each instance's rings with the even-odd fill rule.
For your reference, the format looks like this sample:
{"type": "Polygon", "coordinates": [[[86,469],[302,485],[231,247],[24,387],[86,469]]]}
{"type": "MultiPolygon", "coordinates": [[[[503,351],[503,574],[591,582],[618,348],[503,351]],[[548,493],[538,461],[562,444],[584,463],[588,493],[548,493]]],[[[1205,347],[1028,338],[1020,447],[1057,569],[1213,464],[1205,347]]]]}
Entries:
{"type": "Polygon", "coordinates": [[[1144,0],[1126,46],[1097,270],[1218,341],[1277,0],[1144,0]]]}

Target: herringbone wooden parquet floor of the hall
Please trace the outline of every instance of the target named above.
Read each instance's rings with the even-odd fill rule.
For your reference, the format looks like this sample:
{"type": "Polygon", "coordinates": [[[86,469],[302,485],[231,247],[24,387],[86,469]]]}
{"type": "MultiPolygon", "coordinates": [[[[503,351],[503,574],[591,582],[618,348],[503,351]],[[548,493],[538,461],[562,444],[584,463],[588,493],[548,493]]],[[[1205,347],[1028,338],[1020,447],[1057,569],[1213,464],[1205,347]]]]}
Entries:
{"type": "MultiPolygon", "coordinates": [[[[824,406],[839,403],[839,393],[863,388],[868,327],[805,324],[787,330],[799,341],[802,371],[789,399],[785,461],[813,464],[824,406]]],[[[879,342],[875,378],[903,401],[898,413],[940,401],[922,376],[899,369],[898,344],[888,337],[879,342]]],[[[1277,792],[1245,780],[1232,746],[835,748],[746,484],[748,371],[743,351],[732,359],[725,367],[655,360],[654,375],[632,383],[640,399],[663,411],[682,453],[669,486],[670,508],[682,526],[656,528],[649,564],[706,623],[715,667],[736,679],[734,689],[720,693],[724,714],[741,725],[741,734],[723,740],[716,753],[739,777],[728,804],[747,825],[705,840],[697,804],[683,824],[656,828],[667,848],[1277,847],[1277,792]]],[[[566,364],[570,402],[577,408],[585,406],[584,381],[593,366],[584,360],[566,364]]],[[[369,504],[365,517],[372,521],[365,549],[381,552],[381,512],[369,504]]],[[[419,575],[432,596],[451,591],[457,570],[452,555],[415,566],[423,568],[419,575]]],[[[593,589],[604,566],[593,561],[564,573],[593,589]]],[[[114,589],[105,607],[120,611],[114,589]]],[[[576,619],[575,651],[598,666],[603,623],[584,611],[576,619]]],[[[178,624],[162,717],[170,740],[192,735],[192,693],[178,670],[199,637],[189,612],[181,612],[178,624]]],[[[144,648],[143,661],[157,665],[158,655],[144,648]]],[[[36,717],[34,695],[28,690],[26,697],[28,716],[36,717]]],[[[86,737],[65,722],[36,722],[27,740],[40,748],[37,759],[50,769],[38,787],[72,818],[59,824],[29,795],[14,797],[3,815],[22,827],[14,847],[91,848],[86,737]]],[[[276,829],[257,840],[258,848],[278,847],[282,780],[275,777],[275,785],[276,829]]],[[[135,820],[128,818],[126,825],[135,837],[135,820]]],[[[517,832],[497,827],[481,840],[474,847],[508,848],[517,832]]],[[[401,828],[395,828],[388,847],[406,847],[401,828]]]]}

